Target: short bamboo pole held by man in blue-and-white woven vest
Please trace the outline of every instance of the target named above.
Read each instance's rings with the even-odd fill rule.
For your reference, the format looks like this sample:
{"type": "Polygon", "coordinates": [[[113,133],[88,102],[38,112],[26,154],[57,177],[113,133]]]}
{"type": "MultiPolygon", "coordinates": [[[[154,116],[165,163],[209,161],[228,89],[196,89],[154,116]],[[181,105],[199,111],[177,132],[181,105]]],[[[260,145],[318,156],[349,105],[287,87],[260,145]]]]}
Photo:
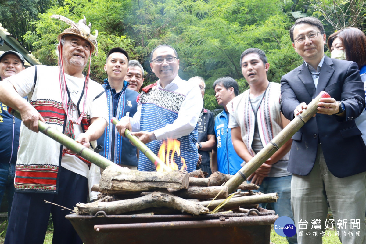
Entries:
{"type": "MultiPolygon", "coordinates": [[[[112,118],[111,122],[114,125],[117,125],[117,123],[119,122],[116,118],[112,118]]],[[[163,167],[163,171],[171,171],[171,169],[164,164],[163,161],[161,161],[160,158],[158,158],[158,156],[156,154],[153,153],[152,150],[150,150],[145,144],[143,144],[143,142],[141,142],[141,140],[139,140],[136,136],[131,134],[131,131],[126,129],[124,131],[124,135],[128,138],[128,140],[130,140],[140,151],[142,151],[142,153],[150,159],[151,162],[154,163],[155,167],[157,165],[160,165],[161,167],[163,167]]]]}

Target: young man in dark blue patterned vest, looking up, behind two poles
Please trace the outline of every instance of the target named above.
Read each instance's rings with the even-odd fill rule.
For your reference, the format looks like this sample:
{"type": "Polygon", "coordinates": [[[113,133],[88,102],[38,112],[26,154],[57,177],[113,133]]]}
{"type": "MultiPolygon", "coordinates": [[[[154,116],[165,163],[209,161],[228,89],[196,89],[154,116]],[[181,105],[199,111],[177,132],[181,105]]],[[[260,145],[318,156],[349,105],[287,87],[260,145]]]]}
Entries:
{"type": "MultiPolygon", "coordinates": [[[[109,120],[113,117],[120,120],[123,116],[133,116],[137,111],[136,99],[139,93],[127,89],[128,82],[124,77],[128,70],[128,53],[126,50],[112,48],[107,55],[104,71],[108,78],[104,80],[107,94],[109,120]]],[[[127,138],[119,135],[115,125],[109,123],[104,134],[97,140],[102,146],[100,154],[122,167],[137,170],[137,149],[127,138]]]]}

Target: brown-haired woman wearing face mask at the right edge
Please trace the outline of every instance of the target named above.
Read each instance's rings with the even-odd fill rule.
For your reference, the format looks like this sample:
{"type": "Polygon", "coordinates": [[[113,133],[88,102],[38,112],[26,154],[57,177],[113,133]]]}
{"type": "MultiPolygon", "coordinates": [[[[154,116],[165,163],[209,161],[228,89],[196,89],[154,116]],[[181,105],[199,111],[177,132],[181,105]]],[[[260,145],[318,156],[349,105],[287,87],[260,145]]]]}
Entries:
{"type": "MultiPolygon", "coordinates": [[[[361,79],[364,83],[366,97],[366,36],[354,27],[347,27],[329,35],[328,48],[332,58],[354,61],[358,64],[361,79]]],[[[357,127],[362,132],[362,139],[366,144],[366,108],[355,119],[357,127]]]]}

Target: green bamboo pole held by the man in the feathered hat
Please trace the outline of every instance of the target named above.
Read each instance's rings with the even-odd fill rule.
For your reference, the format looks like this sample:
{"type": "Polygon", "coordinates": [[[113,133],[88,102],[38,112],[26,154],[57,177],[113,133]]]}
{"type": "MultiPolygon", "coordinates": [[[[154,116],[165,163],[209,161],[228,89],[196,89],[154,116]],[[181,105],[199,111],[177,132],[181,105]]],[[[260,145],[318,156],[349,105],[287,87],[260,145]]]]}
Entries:
{"type": "MultiPolygon", "coordinates": [[[[20,117],[20,113],[17,110],[9,108],[8,111],[18,119],[22,119],[20,117]]],[[[56,142],[59,142],[60,144],[64,145],[68,149],[74,151],[76,154],[80,155],[81,157],[85,158],[86,160],[99,166],[102,169],[105,169],[107,168],[107,166],[110,165],[116,165],[112,161],[109,161],[107,158],[99,155],[98,153],[95,153],[93,150],[90,150],[82,144],[75,142],[75,140],[71,139],[67,135],[62,134],[56,129],[47,126],[44,122],[40,120],[38,120],[38,131],[45,134],[46,136],[49,136],[56,142]]]]}

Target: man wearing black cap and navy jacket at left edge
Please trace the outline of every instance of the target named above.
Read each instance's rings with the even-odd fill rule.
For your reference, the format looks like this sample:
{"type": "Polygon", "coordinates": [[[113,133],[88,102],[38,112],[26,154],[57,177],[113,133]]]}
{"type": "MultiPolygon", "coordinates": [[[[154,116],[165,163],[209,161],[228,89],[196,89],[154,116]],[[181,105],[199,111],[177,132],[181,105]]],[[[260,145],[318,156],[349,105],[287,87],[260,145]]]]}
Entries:
{"type": "MultiPolygon", "coordinates": [[[[12,50],[0,55],[0,77],[4,80],[24,70],[24,57],[12,50]]],[[[20,121],[8,113],[0,102],[0,203],[4,193],[8,199],[8,217],[14,196],[15,163],[19,146],[20,121]]]]}

